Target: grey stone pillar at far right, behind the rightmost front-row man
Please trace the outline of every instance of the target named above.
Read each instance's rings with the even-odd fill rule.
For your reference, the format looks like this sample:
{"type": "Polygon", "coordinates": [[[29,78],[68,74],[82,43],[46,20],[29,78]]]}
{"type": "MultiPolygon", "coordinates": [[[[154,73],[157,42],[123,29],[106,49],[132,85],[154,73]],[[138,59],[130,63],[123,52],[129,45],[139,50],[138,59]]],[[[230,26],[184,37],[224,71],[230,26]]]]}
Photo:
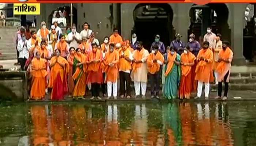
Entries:
{"type": "MultiPolygon", "coordinates": [[[[243,56],[243,30],[244,11],[247,4],[233,4],[233,9],[230,11],[231,23],[231,47],[234,50],[233,64],[245,65],[245,58],[243,56]]],[[[230,6],[231,8],[231,6],[230,6]]]]}

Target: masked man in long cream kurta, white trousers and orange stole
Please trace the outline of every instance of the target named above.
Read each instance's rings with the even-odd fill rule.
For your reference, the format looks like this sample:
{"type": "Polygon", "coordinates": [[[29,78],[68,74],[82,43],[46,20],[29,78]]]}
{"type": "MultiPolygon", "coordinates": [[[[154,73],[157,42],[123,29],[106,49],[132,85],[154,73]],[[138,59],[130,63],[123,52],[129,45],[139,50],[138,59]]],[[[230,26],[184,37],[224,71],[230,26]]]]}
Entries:
{"type": "Polygon", "coordinates": [[[140,87],[142,98],[146,98],[147,91],[147,58],[148,50],[144,49],[143,42],[138,43],[138,48],[133,52],[133,64],[131,79],[134,82],[135,98],[140,96],[140,87]]]}

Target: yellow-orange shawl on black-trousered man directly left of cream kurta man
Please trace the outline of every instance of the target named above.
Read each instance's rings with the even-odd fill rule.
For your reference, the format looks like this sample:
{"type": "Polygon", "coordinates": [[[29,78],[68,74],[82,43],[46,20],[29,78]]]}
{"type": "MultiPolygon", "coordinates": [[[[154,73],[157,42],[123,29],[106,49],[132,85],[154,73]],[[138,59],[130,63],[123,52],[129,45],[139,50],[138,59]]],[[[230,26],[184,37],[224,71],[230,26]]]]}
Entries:
{"type": "Polygon", "coordinates": [[[125,49],[123,50],[123,48],[121,47],[119,50],[119,57],[120,57],[120,60],[119,60],[119,69],[121,71],[125,71],[125,70],[131,70],[132,67],[131,67],[131,62],[128,62],[125,58],[121,58],[121,55],[124,53],[124,57],[129,57],[130,56],[130,51],[129,49],[125,49]]]}

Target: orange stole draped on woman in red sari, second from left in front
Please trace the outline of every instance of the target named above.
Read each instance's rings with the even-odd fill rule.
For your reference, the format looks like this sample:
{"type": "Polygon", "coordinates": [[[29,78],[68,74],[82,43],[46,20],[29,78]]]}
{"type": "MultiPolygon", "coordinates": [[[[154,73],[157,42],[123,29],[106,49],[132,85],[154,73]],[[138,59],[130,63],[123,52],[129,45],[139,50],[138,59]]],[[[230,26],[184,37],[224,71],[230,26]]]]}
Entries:
{"type": "MultiPolygon", "coordinates": [[[[64,80],[63,80],[64,73],[68,73],[68,70],[69,70],[68,61],[61,56],[52,57],[52,59],[50,59],[50,65],[54,64],[54,62],[56,62],[57,58],[58,58],[58,61],[64,65],[64,68],[59,63],[56,63],[54,66],[52,66],[51,71],[50,71],[50,80],[49,80],[49,86],[48,86],[49,88],[53,88],[54,81],[56,80],[58,74],[60,74],[61,81],[64,82],[64,80]]],[[[66,75],[67,74],[65,74],[65,76],[66,75]]]]}

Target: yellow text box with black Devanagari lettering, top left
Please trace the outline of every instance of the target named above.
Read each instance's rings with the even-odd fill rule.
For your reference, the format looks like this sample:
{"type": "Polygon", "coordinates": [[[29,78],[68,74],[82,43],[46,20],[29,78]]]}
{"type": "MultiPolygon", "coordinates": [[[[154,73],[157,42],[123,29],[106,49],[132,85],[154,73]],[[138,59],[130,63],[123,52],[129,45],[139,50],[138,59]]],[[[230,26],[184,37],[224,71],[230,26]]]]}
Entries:
{"type": "Polygon", "coordinates": [[[14,15],[40,15],[40,3],[14,3],[14,15]]]}

